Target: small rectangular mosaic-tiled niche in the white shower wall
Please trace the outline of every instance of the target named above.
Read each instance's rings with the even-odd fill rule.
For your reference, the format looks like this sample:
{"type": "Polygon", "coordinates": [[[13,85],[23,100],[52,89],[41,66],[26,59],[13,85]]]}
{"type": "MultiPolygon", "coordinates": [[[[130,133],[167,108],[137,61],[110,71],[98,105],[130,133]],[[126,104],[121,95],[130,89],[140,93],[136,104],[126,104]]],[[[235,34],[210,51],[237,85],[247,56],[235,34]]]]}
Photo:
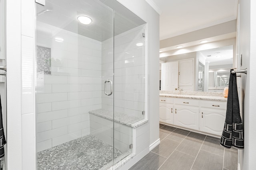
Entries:
{"type": "Polygon", "coordinates": [[[42,46],[36,46],[37,72],[51,74],[51,49],[42,46]]]}

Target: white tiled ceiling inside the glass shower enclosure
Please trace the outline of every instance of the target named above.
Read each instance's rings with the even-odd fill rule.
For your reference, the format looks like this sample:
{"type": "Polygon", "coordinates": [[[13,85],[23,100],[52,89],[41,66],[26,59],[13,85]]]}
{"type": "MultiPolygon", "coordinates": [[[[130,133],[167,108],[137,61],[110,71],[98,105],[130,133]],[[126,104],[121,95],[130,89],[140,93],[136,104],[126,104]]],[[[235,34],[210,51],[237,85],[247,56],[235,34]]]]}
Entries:
{"type": "Polygon", "coordinates": [[[98,0],[47,0],[46,6],[36,4],[37,12],[43,10],[52,10],[52,12],[44,12],[37,16],[37,21],[49,23],[98,41],[113,37],[113,14],[110,8],[115,10],[114,35],[146,23],[116,0],[101,1],[106,6],[99,5],[100,1],[98,0]],[[92,23],[88,25],[80,23],[77,20],[80,15],[90,17],[92,23]]]}

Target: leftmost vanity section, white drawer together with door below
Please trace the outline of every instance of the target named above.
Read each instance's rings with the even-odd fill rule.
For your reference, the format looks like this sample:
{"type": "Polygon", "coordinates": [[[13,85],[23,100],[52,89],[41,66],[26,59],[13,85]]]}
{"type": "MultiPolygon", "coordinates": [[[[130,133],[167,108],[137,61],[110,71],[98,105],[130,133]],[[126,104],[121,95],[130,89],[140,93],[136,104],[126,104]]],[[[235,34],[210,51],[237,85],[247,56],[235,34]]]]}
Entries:
{"type": "Polygon", "coordinates": [[[173,98],[160,98],[159,121],[173,125],[173,98]]]}

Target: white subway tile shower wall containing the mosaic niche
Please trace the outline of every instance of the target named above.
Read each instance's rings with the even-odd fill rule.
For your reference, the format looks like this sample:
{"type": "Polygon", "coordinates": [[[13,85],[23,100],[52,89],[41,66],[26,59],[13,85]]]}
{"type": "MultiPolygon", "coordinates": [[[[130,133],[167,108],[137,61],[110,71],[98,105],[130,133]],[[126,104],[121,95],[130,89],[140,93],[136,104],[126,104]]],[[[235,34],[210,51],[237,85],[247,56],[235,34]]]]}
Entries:
{"type": "Polygon", "coordinates": [[[88,111],[100,109],[102,102],[102,43],[37,22],[36,45],[51,48],[52,65],[51,75],[38,74],[36,80],[40,152],[90,134],[88,111]]]}

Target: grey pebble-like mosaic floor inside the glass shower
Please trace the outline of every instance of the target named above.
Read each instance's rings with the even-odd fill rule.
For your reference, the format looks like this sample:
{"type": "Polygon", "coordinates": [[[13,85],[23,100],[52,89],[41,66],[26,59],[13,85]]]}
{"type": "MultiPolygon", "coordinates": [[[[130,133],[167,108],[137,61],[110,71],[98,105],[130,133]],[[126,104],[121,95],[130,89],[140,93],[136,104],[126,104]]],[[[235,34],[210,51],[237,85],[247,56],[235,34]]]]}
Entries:
{"type": "MultiPolygon", "coordinates": [[[[114,149],[114,158],[127,153],[114,149]]],[[[113,147],[92,135],[38,152],[38,170],[99,170],[113,164],[113,147]]]]}

